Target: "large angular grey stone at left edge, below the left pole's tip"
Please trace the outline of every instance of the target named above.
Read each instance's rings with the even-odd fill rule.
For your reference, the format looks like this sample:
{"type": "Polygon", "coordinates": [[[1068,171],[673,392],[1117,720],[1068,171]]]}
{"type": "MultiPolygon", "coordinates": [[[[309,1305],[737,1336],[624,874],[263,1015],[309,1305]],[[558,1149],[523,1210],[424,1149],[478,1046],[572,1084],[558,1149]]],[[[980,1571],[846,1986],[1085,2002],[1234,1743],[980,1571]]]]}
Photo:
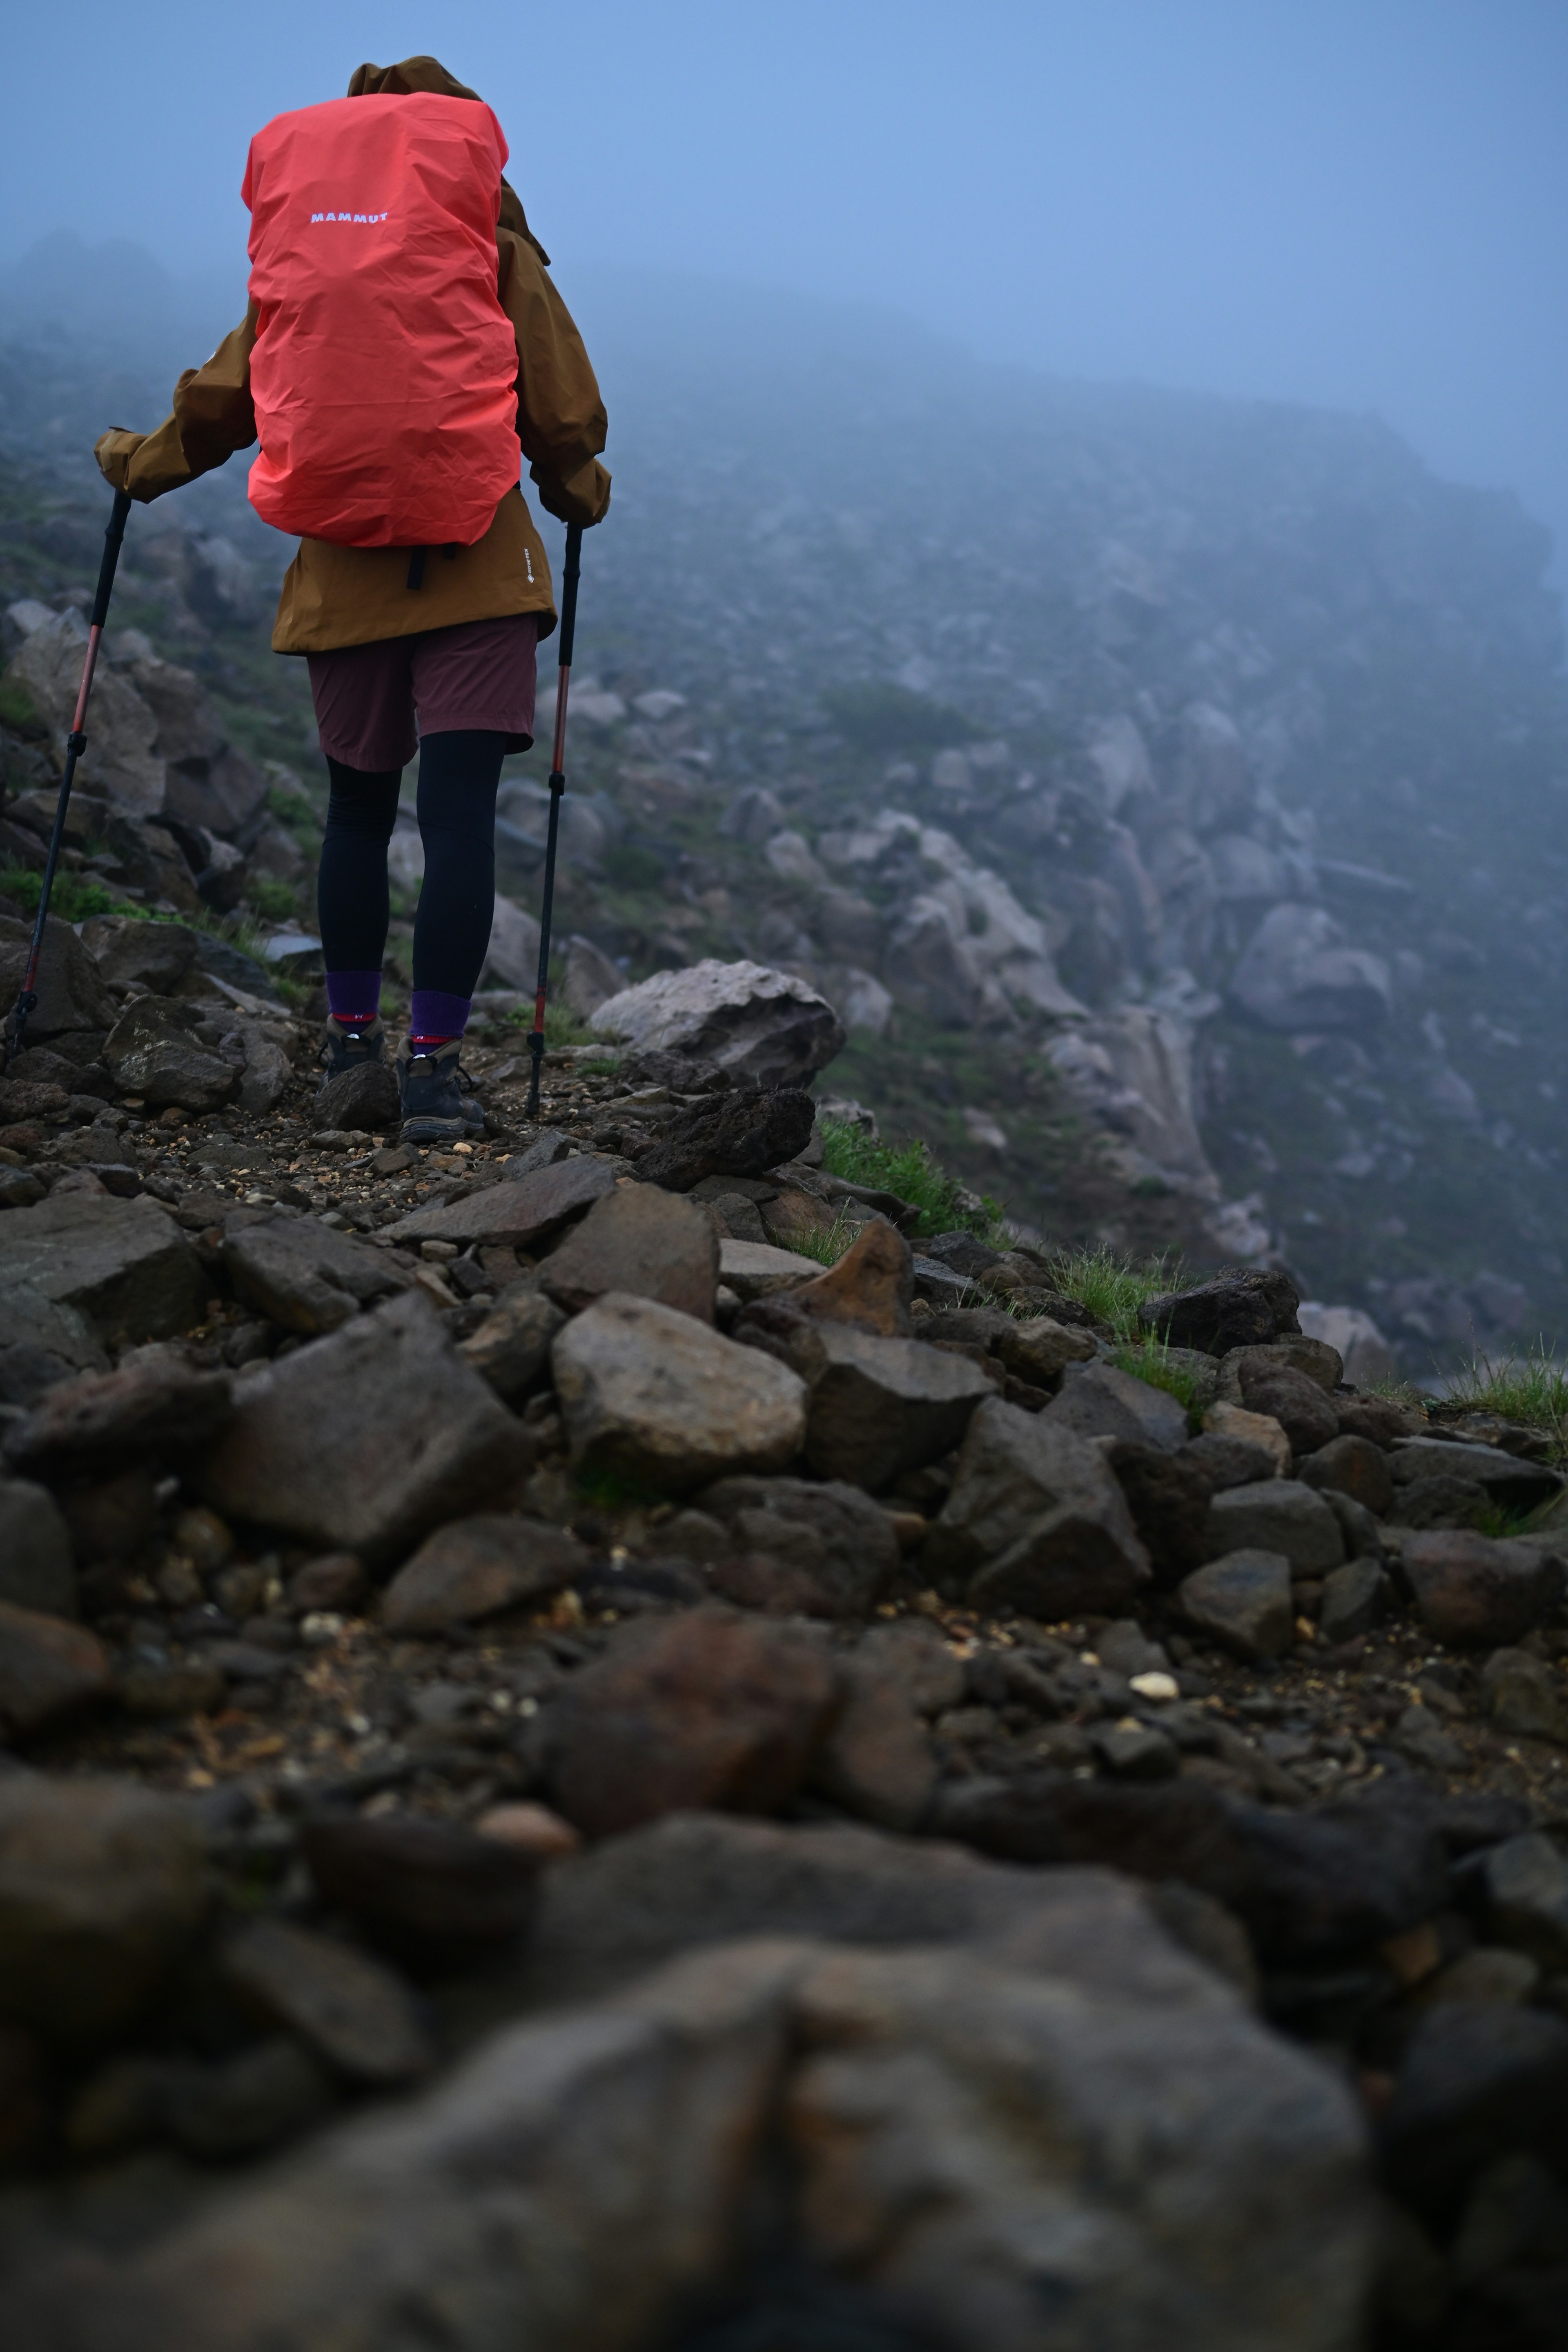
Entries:
{"type": "Polygon", "coordinates": [[[158,1202],[45,1200],[0,1218],[0,1341],[103,1369],[103,1343],[172,1338],[202,1319],[207,1277],[158,1202]]]}

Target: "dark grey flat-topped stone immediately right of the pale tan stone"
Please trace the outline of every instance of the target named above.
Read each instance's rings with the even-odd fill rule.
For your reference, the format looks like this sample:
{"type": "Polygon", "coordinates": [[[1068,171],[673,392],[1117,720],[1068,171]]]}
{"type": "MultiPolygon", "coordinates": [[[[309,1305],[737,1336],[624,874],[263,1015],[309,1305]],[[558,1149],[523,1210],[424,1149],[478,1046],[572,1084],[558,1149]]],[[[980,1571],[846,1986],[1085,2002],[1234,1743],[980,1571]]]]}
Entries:
{"type": "Polygon", "coordinates": [[[818,1477],[872,1494],[903,1470],[950,1454],[976,1404],[997,1392],[966,1357],[853,1324],[802,1322],[790,1338],[790,1362],[811,1390],[806,1461],[818,1477]]]}

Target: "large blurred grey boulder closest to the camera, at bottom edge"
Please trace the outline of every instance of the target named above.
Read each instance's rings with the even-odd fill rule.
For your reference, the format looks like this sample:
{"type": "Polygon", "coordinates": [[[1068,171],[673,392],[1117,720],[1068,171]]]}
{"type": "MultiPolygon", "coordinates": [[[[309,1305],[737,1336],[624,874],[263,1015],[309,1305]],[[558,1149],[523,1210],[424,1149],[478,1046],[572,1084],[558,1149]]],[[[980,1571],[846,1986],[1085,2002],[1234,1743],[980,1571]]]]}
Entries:
{"type": "Polygon", "coordinates": [[[773,1933],[510,2025],[146,2251],[35,2260],[9,2338],[635,2352],[733,2298],[759,2199],[795,2288],[748,2340],[931,2352],[1342,2352],[1375,2218],[1349,2091],[1100,1882],[1037,1962],[773,1933]]]}

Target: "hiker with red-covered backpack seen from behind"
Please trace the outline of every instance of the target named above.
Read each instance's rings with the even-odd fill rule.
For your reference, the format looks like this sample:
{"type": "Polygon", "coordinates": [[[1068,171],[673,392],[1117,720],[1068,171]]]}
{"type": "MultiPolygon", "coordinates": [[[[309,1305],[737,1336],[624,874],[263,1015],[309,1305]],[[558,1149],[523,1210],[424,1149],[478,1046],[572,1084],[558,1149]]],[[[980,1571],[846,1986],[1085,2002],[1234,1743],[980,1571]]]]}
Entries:
{"type": "Polygon", "coordinates": [[[498,179],[505,139],[477,92],[433,56],[409,56],[360,66],[348,99],[411,103],[360,113],[334,101],[280,115],[256,136],[244,179],[254,263],[244,322],[179,379],[174,414],[155,433],[103,433],[96,459],[115,489],[146,501],[261,437],[252,503],[301,532],[273,649],[310,666],[331,776],[317,884],[329,1004],[322,1087],[383,1058],[386,849],[402,769],[418,748],[425,880],[409,1035],[395,1068],[404,1141],[433,1143],[484,1124],[463,1091],[458,1051],[494,913],[496,786],[503,757],[534,741],[536,647],[557,619],[517,480],[520,449],[541,506],[567,524],[592,524],[609,506],[597,461],[607,423],[550,256],[498,179]],[[393,151],[416,155],[425,172],[411,181],[418,205],[407,216],[451,202],[449,252],[395,242],[407,216],[386,198],[393,151]],[[327,179],[310,176],[320,153],[336,158],[327,179]],[[475,228],[489,219],[477,209],[487,186],[498,212],[494,282],[475,228]],[[343,212],[322,188],[367,209],[343,212]],[[400,214],[390,233],[388,209],[400,214]],[[404,259],[393,266],[383,254],[404,259]],[[331,273],[343,268],[360,273],[353,294],[369,303],[357,341],[341,327],[343,280],[331,273]],[[301,280],[306,296],[294,301],[301,280]],[[404,381],[433,400],[388,409],[386,383],[404,381]]]}

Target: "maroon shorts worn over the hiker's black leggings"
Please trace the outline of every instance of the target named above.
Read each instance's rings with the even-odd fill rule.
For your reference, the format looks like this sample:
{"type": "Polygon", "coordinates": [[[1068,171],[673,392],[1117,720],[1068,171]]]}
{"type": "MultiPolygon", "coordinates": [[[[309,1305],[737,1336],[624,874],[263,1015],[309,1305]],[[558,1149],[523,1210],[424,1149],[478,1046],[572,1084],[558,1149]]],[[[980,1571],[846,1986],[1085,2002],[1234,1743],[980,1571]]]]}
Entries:
{"type": "Polygon", "coordinates": [[[527,750],[536,652],[538,614],[517,612],[310,654],[322,753],[343,767],[388,774],[409,764],[418,736],[454,727],[503,734],[508,750],[527,750]]]}

